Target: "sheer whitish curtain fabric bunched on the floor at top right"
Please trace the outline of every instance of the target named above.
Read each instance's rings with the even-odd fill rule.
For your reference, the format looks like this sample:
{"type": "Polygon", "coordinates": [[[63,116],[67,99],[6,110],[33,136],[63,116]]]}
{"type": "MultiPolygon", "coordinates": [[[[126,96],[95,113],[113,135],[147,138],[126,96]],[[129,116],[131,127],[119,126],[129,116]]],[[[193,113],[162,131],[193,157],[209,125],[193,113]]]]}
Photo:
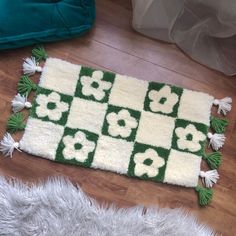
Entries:
{"type": "Polygon", "coordinates": [[[236,0],[132,0],[133,27],[194,60],[236,74],[236,0]]]}

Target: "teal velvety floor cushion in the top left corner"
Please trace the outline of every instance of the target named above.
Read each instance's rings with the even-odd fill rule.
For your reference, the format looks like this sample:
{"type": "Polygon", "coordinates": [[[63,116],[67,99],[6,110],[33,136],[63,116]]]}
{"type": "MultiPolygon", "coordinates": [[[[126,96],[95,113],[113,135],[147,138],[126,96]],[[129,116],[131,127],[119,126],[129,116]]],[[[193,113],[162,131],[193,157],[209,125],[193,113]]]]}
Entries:
{"type": "Polygon", "coordinates": [[[0,0],[0,50],[79,36],[94,19],[94,0],[0,0]]]}

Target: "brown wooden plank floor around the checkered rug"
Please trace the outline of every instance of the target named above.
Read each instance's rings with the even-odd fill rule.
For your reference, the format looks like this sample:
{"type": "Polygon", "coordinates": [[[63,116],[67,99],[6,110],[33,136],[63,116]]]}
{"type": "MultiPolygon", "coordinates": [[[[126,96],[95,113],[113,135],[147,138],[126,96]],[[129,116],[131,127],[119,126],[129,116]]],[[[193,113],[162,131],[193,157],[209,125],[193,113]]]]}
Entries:
{"type": "MultiPolygon", "coordinates": [[[[236,78],[210,70],[184,55],[176,46],[146,38],[131,27],[131,4],[126,0],[98,0],[97,21],[85,36],[46,44],[52,57],[72,63],[128,74],[145,80],[171,83],[200,90],[217,98],[231,96],[236,102],[236,78]]],[[[22,58],[30,47],[0,52],[0,135],[11,110],[11,100],[21,74],[22,58]]],[[[35,82],[37,78],[35,77],[35,82]]],[[[37,182],[48,176],[64,175],[99,202],[120,207],[143,204],[183,207],[223,235],[236,235],[236,106],[227,116],[230,126],[222,150],[224,160],[214,199],[206,208],[197,204],[193,189],[141,181],[99,170],[53,163],[26,153],[0,158],[0,175],[37,182]]],[[[16,139],[21,134],[15,135],[16,139]]]]}

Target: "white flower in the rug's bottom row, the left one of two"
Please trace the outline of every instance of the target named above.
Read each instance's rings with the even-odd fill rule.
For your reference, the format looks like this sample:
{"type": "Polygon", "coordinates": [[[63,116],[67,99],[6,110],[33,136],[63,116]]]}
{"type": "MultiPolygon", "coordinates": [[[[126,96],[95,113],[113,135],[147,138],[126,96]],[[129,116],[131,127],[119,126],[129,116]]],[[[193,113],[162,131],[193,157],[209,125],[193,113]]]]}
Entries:
{"type": "Polygon", "coordinates": [[[78,162],[84,162],[88,158],[88,154],[93,152],[95,148],[95,143],[89,141],[81,131],[78,131],[74,137],[65,136],[63,143],[65,145],[64,158],[67,160],[76,159],[78,162]]]}

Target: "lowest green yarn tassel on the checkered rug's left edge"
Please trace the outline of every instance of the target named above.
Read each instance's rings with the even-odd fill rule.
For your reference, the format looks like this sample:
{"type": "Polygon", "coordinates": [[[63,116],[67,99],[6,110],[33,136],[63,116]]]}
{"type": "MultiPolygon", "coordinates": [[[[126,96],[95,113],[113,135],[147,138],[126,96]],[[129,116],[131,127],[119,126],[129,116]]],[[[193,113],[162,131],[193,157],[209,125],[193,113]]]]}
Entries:
{"type": "Polygon", "coordinates": [[[25,129],[24,116],[22,113],[16,113],[9,117],[7,121],[7,130],[15,133],[17,130],[25,129]]]}

